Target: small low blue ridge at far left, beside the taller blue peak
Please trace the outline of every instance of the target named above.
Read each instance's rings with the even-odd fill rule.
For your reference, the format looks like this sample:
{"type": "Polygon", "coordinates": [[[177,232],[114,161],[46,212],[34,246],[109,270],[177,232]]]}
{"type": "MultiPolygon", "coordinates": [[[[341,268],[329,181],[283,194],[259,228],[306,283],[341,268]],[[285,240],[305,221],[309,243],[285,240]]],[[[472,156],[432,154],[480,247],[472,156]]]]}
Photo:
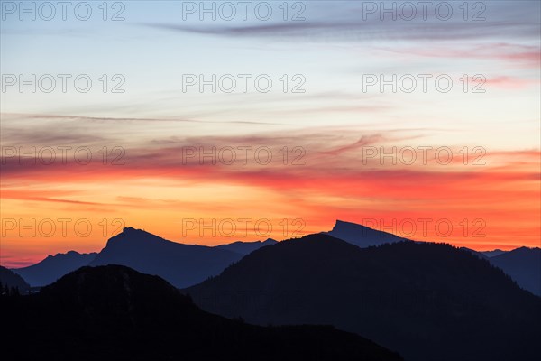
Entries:
{"type": "Polygon", "coordinates": [[[96,253],[79,254],[69,251],[65,254],[49,255],[38,264],[15,268],[12,271],[21,275],[32,287],[45,286],[55,282],[64,274],[89,264],[96,255],[96,253]]]}

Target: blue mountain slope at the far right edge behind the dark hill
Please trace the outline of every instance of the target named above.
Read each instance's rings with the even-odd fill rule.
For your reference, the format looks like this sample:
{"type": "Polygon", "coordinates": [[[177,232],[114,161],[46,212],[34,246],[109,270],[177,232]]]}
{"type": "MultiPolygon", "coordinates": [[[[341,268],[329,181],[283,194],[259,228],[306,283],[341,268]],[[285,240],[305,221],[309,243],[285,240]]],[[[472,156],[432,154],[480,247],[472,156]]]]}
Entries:
{"type": "Polygon", "coordinates": [[[523,289],[541,296],[541,248],[520,247],[495,255],[489,262],[509,274],[523,289]]]}

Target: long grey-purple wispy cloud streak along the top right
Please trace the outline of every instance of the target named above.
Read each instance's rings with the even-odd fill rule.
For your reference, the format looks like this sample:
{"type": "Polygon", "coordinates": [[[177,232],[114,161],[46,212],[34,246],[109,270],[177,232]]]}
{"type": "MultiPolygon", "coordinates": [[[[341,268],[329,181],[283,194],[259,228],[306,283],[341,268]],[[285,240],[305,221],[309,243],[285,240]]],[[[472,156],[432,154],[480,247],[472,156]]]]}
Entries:
{"type": "MultiPolygon", "coordinates": [[[[486,3],[485,3],[486,4],[486,3]]],[[[436,17],[434,9],[424,16],[407,21],[390,15],[381,21],[380,13],[363,14],[362,3],[320,3],[312,9],[311,19],[302,22],[249,23],[246,25],[216,25],[215,23],[142,23],[170,32],[189,32],[221,37],[303,38],[311,41],[471,41],[487,39],[527,38],[536,40],[539,34],[538,2],[491,2],[486,5],[482,21],[464,20],[454,14],[449,21],[436,17]],[[314,20],[312,20],[314,19],[314,20]],[[365,19],[365,20],[363,20],[365,19]]],[[[459,9],[454,8],[456,13],[459,9]]]]}

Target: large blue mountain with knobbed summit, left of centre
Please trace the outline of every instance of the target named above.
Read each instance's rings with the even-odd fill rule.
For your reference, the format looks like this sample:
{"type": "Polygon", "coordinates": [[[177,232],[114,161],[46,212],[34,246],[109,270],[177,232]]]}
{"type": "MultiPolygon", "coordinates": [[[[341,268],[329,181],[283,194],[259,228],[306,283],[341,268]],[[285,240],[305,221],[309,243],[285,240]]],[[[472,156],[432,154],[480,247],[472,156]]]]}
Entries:
{"type": "Polygon", "coordinates": [[[121,264],[156,274],[176,287],[188,287],[221,273],[243,255],[205,245],[183,245],[132,227],[107,241],[89,264],[121,264]]]}

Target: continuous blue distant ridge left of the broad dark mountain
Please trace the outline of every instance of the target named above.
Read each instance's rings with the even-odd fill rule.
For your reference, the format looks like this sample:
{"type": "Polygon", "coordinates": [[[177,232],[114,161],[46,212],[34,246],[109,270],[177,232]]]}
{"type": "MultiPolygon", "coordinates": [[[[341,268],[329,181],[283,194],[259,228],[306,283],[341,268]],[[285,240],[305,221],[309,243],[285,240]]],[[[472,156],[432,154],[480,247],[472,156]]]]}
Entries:
{"type": "Polygon", "coordinates": [[[184,245],[133,227],[109,239],[99,253],[49,255],[38,264],[12,271],[31,286],[45,286],[85,265],[122,264],[142,273],[157,274],[176,287],[188,287],[221,273],[226,266],[277,241],[234,242],[209,247],[184,245]]]}

